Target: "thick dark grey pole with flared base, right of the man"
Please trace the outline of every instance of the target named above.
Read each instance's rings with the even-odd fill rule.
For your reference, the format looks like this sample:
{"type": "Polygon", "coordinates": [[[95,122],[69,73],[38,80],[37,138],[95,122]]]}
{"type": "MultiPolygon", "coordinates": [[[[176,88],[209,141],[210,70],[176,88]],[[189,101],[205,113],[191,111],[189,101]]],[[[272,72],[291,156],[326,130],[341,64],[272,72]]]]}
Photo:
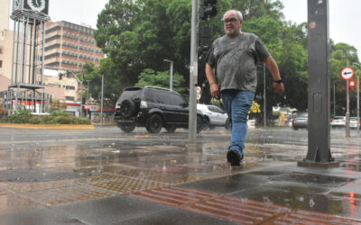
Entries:
{"type": "Polygon", "coordinates": [[[334,167],[330,152],[329,0],[308,0],[309,143],[298,166],[334,167]]]}

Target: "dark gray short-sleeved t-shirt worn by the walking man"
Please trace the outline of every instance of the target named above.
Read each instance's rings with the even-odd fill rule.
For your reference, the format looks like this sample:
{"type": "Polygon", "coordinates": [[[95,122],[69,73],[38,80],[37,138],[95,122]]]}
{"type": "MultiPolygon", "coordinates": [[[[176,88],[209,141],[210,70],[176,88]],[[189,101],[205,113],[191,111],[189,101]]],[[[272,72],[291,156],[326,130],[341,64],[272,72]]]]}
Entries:
{"type": "Polygon", "coordinates": [[[216,70],[220,90],[236,89],[255,92],[257,61],[271,54],[253,33],[218,38],[209,49],[206,62],[216,70]]]}

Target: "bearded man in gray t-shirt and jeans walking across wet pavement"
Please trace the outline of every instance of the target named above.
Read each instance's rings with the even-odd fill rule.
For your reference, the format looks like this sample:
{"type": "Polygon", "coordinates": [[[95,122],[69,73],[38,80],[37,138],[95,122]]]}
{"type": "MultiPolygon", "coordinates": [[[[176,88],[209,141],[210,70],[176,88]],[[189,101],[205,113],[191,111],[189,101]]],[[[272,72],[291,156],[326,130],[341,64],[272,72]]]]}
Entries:
{"type": "Polygon", "coordinates": [[[227,160],[231,166],[239,166],[244,157],[248,112],[255,97],[257,62],[265,62],[273,76],[275,92],[282,94],[284,86],[278,66],[262,41],[253,33],[241,31],[241,12],[227,11],[223,15],[223,22],[226,35],[215,40],[208,51],[206,76],[212,97],[222,98],[232,121],[227,160]]]}

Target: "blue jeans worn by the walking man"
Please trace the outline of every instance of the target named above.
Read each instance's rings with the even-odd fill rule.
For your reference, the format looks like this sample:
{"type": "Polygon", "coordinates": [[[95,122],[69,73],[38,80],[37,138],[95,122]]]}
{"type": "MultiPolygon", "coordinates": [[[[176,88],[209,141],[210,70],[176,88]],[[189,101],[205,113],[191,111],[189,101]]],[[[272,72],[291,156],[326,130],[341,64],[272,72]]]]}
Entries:
{"type": "Polygon", "coordinates": [[[247,117],[254,101],[255,93],[250,91],[224,90],[221,93],[223,105],[232,121],[231,142],[228,149],[234,149],[243,156],[247,117]]]}

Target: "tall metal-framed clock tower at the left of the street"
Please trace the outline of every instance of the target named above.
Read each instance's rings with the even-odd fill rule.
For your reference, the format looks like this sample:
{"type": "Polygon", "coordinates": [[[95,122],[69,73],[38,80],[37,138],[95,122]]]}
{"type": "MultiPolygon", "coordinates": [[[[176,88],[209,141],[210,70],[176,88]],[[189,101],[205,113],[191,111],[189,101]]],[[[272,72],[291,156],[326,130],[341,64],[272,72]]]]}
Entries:
{"type": "Polygon", "coordinates": [[[32,96],[32,112],[44,112],[50,102],[43,83],[45,23],[49,0],[13,0],[14,42],[11,83],[5,107],[12,114],[23,100],[32,96]]]}

